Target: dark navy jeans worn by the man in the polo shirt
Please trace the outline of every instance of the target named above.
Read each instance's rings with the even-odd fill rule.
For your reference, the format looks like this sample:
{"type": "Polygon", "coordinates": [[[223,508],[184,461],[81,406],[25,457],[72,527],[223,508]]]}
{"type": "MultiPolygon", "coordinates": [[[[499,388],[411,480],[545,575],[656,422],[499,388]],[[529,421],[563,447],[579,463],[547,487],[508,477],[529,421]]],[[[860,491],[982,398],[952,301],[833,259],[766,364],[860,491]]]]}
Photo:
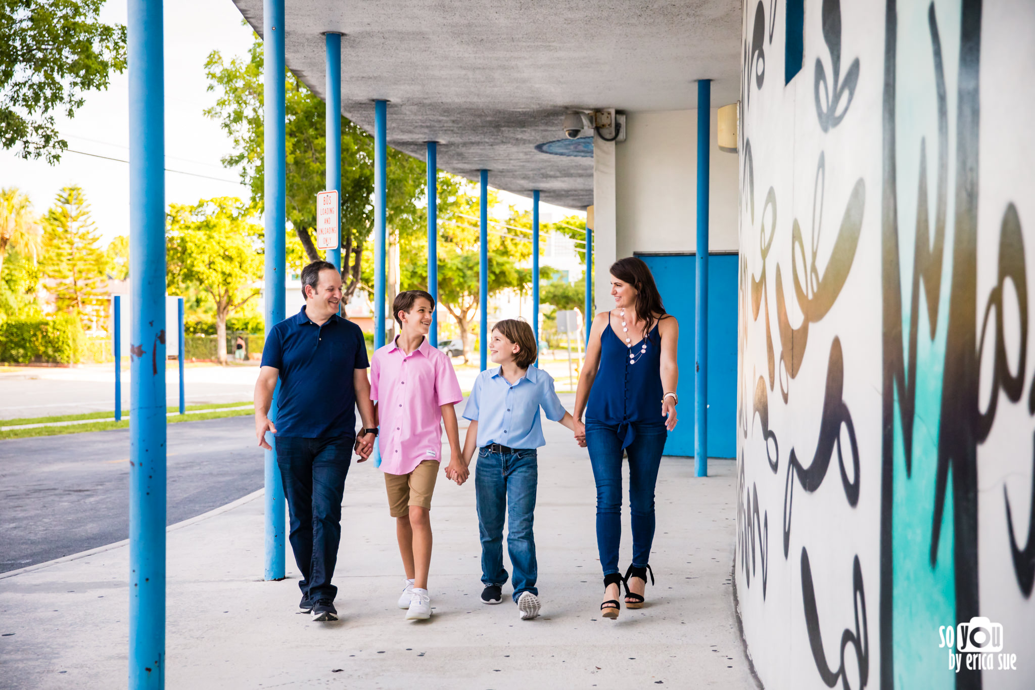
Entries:
{"type": "Polygon", "coordinates": [[[313,601],[334,600],[330,583],[342,541],[342,497],[355,440],[276,438],[276,464],[291,516],[291,550],[302,580],[298,587],[313,601]]]}

